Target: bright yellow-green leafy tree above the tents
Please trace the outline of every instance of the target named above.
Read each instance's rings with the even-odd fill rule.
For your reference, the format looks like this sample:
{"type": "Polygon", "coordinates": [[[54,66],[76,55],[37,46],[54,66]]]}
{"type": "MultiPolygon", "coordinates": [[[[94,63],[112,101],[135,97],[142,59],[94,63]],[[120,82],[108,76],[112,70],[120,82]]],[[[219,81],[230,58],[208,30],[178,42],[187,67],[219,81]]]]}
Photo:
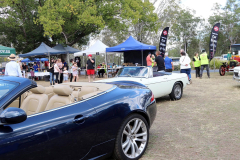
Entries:
{"type": "Polygon", "coordinates": [[[153,9],[147,0],[46,0],[36,23],[43,25],[44,35],[53,41],[73,45],[105,27],[119,33],[142,19],[152,21],[153,9]]]}

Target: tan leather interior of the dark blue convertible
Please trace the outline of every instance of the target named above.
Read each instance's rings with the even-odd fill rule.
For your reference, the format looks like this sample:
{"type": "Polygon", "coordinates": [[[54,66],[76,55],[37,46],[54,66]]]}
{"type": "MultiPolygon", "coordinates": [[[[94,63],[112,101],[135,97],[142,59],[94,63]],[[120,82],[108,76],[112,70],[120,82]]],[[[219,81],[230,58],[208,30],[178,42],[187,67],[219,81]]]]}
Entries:
{"type": "Polygon", "coordinates": [[[113,85],[103,83],[71,82],[50,87],[38,85],[17,99],[8,107],[23,109],[27,115],[55,109],[71,103],[86,100],[111,89],[113,85]]]}

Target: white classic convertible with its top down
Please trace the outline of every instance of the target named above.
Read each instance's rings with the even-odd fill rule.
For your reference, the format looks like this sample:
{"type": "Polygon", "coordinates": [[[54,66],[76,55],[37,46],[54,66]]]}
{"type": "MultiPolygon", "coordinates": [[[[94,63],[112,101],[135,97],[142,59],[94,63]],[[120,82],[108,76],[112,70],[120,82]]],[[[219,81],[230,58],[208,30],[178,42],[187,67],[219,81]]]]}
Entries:
{"type": "Polygon", "coordinates": [[[96,82],[134,81],[147,86],[152,90],[155,98],[169,95],[172,100],[179,100],[183,88],[189,84],[185,73],[153,72],[151,67],[124,67],[116,77],[96,82]]]}

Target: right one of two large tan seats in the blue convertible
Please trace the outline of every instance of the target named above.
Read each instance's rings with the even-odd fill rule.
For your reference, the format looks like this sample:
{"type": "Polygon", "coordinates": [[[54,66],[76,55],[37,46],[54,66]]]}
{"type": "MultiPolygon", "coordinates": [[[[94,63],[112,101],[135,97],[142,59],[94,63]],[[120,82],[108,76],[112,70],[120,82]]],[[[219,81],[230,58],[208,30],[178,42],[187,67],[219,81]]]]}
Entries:
{"type": "Polygon", "coordinates": [[[74,102],[72,89],[67,85],[56,85],[53,92],[56,94],[49,100],[46,110],[58,108],[74,102]]]}

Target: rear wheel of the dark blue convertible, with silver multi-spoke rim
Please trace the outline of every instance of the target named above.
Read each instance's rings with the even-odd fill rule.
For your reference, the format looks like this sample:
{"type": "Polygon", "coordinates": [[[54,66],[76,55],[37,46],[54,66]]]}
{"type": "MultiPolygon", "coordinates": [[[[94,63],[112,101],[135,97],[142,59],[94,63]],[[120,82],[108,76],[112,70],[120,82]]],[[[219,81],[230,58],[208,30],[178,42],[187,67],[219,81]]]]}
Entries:
{"type": "Polygon", "coordinates": [[[116,160],[141,158],[147,148],[148,139],[149,126],[146,119],[139,114],[128,116],[118,131],[113,158],[116,160]]]}

